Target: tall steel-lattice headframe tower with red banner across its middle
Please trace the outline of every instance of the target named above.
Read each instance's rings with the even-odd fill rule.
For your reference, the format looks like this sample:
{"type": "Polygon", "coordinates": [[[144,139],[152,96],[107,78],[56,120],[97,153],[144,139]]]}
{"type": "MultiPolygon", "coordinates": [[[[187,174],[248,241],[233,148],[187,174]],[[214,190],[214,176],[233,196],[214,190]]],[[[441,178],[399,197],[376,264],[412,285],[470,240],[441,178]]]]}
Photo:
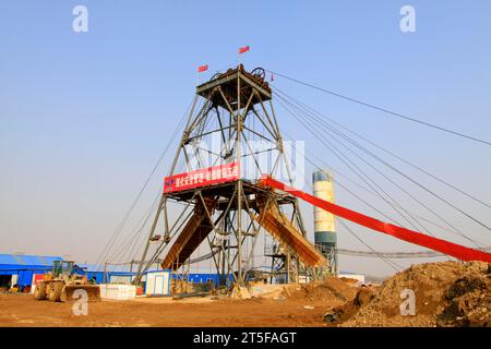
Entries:
{"type": "Polygon", "coordinates": [[[297,240],[304,239],[306,230],[297,198],[258,183],[262,174],[276,177],[282,170],[291,182],[264,77],[263,69],[247,72],[240,64],[196,86],[134,282],[165,255],[163,268],[177,273],[194,261],[213,258],[221,285],[242,286],[262,229],[286,244],[291,253],[288,269],[297,270],[290,278],[298,280],[297,240]],[[161,239],[156,229],[164,230],[161,239]],[[285,238],[294,230],[300,238],[285,238]],[[191,261],[202,243],[211,252],[191,261]]]}

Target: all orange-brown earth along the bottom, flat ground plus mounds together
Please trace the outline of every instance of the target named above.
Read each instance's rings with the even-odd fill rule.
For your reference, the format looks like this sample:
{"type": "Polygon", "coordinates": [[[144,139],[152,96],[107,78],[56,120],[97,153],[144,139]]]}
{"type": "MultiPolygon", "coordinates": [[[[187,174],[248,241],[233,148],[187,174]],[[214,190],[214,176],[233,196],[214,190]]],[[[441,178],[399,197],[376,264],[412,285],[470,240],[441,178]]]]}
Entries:
{"type": "Polygon", "coordinates": [[[380,286],[330,278],[308,285],[258,286],[252,299],[137,298],[72,303],[0,293],[0,326],[484,326],[491,327],[491,265],[414,265],[380,286]],[[412,290],[415,315],[402,315],[402,291],[412,290]]]}

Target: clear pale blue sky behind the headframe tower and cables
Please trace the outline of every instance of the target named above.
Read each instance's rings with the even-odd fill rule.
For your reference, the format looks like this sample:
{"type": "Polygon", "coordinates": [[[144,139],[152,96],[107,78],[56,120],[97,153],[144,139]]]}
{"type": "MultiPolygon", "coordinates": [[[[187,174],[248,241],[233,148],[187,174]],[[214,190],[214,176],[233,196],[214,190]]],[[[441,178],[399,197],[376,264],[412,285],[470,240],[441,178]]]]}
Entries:
{"type": "MultiPolygon", "coordinates": [[[[185,111],[196,67],[209,64],[207,77],[235,64],[243,45],[251,47],[248,69],[264,67],[489,141],[490,15],[489,1],[2,1],[1,252],[95,261],[185,111]],[[76,4],[88,9],[88,33],[72,31],[76,4]],[[399,29],[404,4],[416,9],[416,33],[399,29]]],[[[275,84],[490,201],[489,146],[279,77],[275,84]]],[[[285,132],[316,149],[289,117],[278,118],[285,132]]],[[[158,192],[168,161],[139,212],[158,192]]],[[[463,205],[490,222],[489,209],[463,205]]],[[[407,245],[363,234],[380,250],[407,245]]],[[[367,272],[360,260],[343,262],[367,272]]]]}

